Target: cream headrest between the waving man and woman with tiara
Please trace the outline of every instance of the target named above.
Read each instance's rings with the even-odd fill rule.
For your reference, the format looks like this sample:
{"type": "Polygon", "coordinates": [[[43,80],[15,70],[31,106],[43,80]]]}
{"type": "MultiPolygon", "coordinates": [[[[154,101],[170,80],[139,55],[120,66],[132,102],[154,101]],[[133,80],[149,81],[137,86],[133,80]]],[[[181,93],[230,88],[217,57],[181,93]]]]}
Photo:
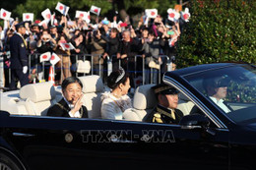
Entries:
{"type": "Polygon", "coordinates": [[[83,84],[83,92],[101,92],[104,90],[104,85],[101,78],[97,75],[79,77],[83,84]]]}

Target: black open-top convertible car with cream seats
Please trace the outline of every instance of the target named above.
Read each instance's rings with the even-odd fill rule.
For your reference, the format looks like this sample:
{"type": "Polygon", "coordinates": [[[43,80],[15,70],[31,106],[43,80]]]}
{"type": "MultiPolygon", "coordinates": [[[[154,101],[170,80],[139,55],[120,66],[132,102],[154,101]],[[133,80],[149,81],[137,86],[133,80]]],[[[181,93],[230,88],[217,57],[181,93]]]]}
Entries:
{"type": "Polygon", "coordinates": [[[124,120],[101,119],[98,101],[106,88],[88,77],[80,78],[94,85],[84,88],[87,119],[45,116],[61,97],[59,87],[46,83],[0,94],[0,169],[256,169],[254,65],[208,64],[165,73],[164,84],[180,91],[184,117],[175,125],[144,121],[157,104],[152,85],[136,89],[124,120]],[[213,100],[211,87],[225,88],[222,103],[213,100]]]}

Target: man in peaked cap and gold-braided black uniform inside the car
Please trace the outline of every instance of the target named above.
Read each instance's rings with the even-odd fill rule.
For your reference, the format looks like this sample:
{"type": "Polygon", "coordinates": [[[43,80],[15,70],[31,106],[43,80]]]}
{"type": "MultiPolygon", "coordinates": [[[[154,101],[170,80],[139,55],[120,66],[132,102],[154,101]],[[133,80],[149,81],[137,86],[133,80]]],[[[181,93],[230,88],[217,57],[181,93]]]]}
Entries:
{"type": "Polygon", "coordinates": [[[158,97],[158,106],[150,114],[148,122],[178,124],[183,113],[177,109],[178,90],[170,85],[153,86],[158,97]]]}

